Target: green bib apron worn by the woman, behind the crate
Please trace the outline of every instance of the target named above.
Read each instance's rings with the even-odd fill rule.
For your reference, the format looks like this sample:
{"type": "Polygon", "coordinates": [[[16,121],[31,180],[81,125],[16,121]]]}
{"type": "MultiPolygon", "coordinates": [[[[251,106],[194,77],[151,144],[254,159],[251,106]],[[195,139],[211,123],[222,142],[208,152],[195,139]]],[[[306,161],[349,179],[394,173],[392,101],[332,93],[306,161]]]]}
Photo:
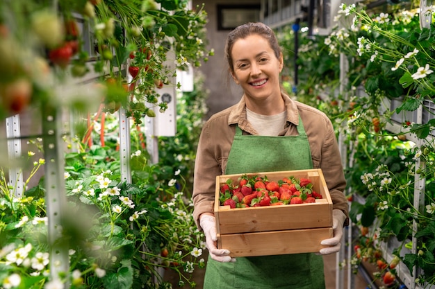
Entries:
{"type": "MultiPolygon", "coordinates": [[[[299,116],[297,136],[243,135],[236,127],[225,173],[260,173],[313,168],[299,116]]],[[[325,289],[322,256],[287,254],[240,257],[233,263],[208,258],[204,289],[325,289]]]]}

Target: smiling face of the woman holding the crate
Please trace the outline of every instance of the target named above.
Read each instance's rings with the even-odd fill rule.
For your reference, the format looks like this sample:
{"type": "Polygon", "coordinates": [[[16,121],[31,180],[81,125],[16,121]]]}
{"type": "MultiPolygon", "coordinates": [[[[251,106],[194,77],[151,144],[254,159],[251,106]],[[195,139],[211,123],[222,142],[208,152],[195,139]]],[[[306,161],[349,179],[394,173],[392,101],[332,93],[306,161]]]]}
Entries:
{"type": "Polygon", "coordinates": [[[268,40],[258,34],[240,38],[231,50],[233,79],[245,91],[247,98],[265,100],[281,98],[279,73],[283,58],[278,59],[268,40]]]}

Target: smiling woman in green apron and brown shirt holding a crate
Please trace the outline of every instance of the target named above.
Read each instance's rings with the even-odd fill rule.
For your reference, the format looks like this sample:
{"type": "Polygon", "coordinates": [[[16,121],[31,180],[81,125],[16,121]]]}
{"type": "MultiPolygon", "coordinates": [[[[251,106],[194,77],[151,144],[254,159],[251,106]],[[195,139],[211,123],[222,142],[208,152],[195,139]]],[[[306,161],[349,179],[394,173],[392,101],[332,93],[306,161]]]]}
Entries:
{"type": "Polygon", "coordinates": [[[229,33],[225,53],[229,73],[244,93],[238,104],[211,116],[199,138],[192,198],[195,222],[204,231],[209,252],[204,288],[325,288],[319,254],[234,259],[227,248],[217,248],[217,175],[323,168],[334,207],[334,237],[321,241],[327,247],[320,254],[338,252],[347,224],[334,128],[325,114],[281,92],[283,56],[272,29],[261,23],[238,26],[229,33]],[[292,278],[291,272],[306,278],[292,278]]]}

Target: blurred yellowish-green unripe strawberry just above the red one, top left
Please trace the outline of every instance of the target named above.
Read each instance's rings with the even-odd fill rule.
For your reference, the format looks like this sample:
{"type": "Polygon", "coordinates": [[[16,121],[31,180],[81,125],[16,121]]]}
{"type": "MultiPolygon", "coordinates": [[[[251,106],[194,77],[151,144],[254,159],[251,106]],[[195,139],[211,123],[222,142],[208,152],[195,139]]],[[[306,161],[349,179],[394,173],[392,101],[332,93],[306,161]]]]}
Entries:
{"type": "Polygon", "coordinates": [[[60,45],[65,38],[65,29],[56,13],[49,10],[41,10],[33,13],[32,29],[38,39],[52,49],[60,45]]]}

